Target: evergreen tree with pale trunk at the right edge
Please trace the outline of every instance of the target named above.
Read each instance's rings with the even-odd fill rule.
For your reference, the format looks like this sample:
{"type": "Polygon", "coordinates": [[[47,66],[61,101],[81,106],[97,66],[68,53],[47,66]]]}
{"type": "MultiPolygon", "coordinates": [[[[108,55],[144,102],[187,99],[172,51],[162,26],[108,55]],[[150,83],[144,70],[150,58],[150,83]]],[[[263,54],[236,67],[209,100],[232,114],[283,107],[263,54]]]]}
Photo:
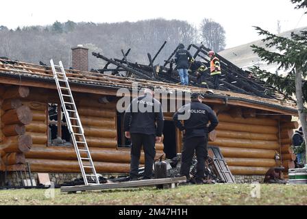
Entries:
{"type": "MultiPolygon", "coordinates": [[[[291,0],[291,2],[297,4],[295,7],[297,9],[307,8],[307,0],[291,0]]],[[[273,86],[275,90],[282,92],[285,99],[290,99],[295,94],[299,120],[302,123],[305,142],[307,142],[306,109],[302,92],[302,83],[307,76],[307,31],[293,33],[291,38],[284,38],[271,34],[260,27],[255,28],[259,35],[265,36],[262,41],[266,42],[267,49],[275,51],[252,45],[254,53],[257,53],[261,60],[267,64],[278,64],[278,69],[283,68],[287,74],[286,77],[278,76],[261,70],[257,66],[251,70],[260,79],[267,79],[267,86],[273,86]]]]}

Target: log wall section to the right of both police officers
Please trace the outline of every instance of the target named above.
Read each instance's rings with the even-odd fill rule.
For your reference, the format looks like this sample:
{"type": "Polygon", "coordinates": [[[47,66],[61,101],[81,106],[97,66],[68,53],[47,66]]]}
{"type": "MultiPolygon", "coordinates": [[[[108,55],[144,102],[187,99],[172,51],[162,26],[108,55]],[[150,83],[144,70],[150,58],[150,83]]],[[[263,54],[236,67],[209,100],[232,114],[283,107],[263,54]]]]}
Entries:
{"type": "MultiPolygon", "coordinates": [[[[275,154],[280,151],[278,120],[253,111],[244,114],[235,110],[219,114],[217,138],[210,145],[219,146],[232,174],[265,175],[272,166],[278,166],[275,154]]],[[[240,111],[241,112],[241,111],[240,111]]]]}

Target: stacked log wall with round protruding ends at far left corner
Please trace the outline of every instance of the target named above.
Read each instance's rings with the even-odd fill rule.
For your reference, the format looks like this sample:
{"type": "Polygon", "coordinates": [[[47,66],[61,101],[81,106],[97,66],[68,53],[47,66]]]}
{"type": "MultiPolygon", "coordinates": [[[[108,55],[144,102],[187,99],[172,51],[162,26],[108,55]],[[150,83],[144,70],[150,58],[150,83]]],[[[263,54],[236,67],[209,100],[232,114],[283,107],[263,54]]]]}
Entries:
{"type": "Polygon", "coordinates": [[[26,126],[32,123],[33,114],[23,104],[27,96],[27,87],[0,87],[0,170],[21,170],[25,164],[25,153],[32,148],[32,135],[26,133],[26,126]]]}

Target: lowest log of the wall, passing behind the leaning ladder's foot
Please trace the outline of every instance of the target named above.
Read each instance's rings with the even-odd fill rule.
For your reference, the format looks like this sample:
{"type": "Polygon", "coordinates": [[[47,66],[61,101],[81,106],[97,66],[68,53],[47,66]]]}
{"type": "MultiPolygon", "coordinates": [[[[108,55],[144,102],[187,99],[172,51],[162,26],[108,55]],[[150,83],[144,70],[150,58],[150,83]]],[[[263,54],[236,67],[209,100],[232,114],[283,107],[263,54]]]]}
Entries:
{"type": "MultiPolygon", "coordinates": [[[[53,159],[26,159],[31,165],[32,172],[80,172],[77,161],[53,159]]],[[[130,164],[94,162],[97,173],[127,173],[130,164]]]]}

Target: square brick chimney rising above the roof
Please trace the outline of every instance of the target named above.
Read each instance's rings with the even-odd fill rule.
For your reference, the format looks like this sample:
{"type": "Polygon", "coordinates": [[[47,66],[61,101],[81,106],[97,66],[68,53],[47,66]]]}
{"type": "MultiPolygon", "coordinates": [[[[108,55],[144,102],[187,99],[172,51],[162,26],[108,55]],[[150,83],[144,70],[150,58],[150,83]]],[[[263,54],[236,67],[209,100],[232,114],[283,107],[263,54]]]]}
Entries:
{"type": "Polygon", "coordinates": [[[73,69],[88,71],[88,49],[78,44],[77,47],[71,48],[73,69]]]}

